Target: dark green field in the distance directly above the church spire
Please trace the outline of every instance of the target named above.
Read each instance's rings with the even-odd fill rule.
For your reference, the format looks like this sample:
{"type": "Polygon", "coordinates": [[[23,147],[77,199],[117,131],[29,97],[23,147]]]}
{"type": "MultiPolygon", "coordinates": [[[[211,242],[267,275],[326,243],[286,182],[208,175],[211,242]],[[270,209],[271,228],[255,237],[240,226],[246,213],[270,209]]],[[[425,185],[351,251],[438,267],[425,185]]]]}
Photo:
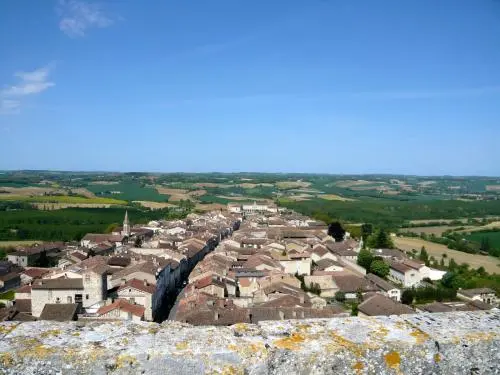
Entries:
{"type": "Polygon", "coordinates": [[[86,187],[92,193],[114,199],[125,201],[152,201],[167,202],[168,195],[158,193],[158,191],[149,186],[141,185],[137,182],[121,182],[113,185],[88,185],[86,187]],[[111,191],[119,191],[119,194],[111,194],[111,191]]]}

